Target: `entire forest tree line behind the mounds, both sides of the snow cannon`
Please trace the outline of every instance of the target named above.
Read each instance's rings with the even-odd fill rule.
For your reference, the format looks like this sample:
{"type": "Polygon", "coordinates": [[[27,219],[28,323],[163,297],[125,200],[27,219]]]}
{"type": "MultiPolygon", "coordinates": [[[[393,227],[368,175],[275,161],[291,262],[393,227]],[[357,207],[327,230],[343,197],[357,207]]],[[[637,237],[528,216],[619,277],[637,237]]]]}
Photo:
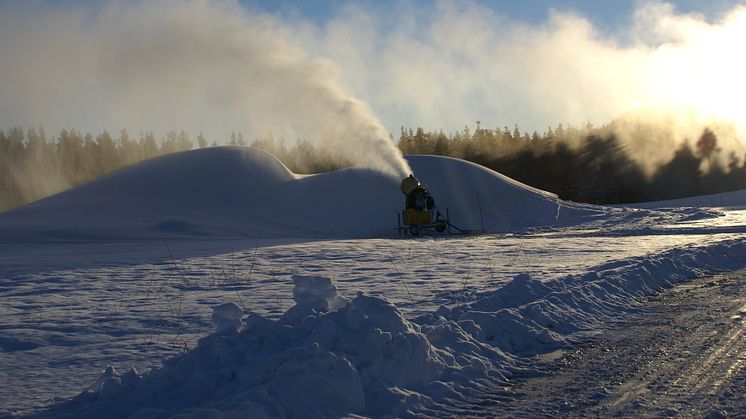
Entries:
{"type": "MultiPolygon", "coordinates": [[[[47,137],[42,128],[0,130],[0,211],[94,180],[134,163],[194,147],[216,146],[202,134],[193,142],[172,131],[156,139],[153,133],[132,137],[121,130],[98,135],[62,130],[47,137]]],[[[247,142],[233,133],[229,145],[266,150],[295,173],[319,173],[349,166],[306,140],[287,145],[271,135],[247,142]]],[[[693,142],[684,142],[673,158],[645,173],[630,158],[613,131],[558,125],[539,134],[513,129],[442,131],[402,128],[398,146],[403,154],[458,157],[496,170],[562,199],[596,204],[620,204],[673,199],[746,188],[746,167],[731,152],[720,154],[718,138],[705,128],[693,142]],[[722,163],[726,161],[727,163],[722,163]]]]}

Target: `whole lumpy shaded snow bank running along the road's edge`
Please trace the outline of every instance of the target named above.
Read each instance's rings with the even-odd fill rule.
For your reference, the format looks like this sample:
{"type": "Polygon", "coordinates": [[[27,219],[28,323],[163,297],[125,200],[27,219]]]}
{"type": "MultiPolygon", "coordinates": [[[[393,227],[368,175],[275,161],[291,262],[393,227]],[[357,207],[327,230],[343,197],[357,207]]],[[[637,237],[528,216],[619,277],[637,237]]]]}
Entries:
{"type": "MultiPolygon", "coordinates": [[[[297,276],[277,320],[216,307],[217,331],[144,374],[107,369],[42,417],[448,416],[477,408],[537,354],[635,310],[637,297],[745,266],[741,240],[675,249],[540,282],[516,276],[470,304],[406,319],[382,298],[297,276]],[[465,409],[465,410],[464,410],[465,409]]],[[[530,371],[529,371],[530,372],[530,371]]],[[[534,372],[537,372],[534,370],[534,372]]]]}

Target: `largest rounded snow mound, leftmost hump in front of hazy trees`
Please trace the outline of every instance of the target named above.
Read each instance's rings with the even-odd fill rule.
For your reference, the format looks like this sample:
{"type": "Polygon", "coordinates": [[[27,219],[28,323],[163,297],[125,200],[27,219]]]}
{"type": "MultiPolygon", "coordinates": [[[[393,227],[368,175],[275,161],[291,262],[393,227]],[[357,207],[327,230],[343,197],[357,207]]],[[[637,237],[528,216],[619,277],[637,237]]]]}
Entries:
{"type": "Polygon", "coordinates": [[[16,240],[106,239],[241,232],[247,210],[295,175],[256,149],[172,154],[0,215],[16,240]]]}

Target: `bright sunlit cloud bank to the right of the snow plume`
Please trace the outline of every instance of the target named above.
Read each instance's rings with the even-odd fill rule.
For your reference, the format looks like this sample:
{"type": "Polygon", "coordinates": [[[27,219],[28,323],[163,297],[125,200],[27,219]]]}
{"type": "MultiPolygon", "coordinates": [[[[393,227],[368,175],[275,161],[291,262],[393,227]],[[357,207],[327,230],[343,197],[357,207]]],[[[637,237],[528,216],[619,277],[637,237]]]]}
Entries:
{"type": "Polygon", "coordinates": [[[710,22],[641,2],[614,32],[560,10],[541,24],[470,3],[376,13],[348,8],[306,44],[342,69],[389,129],[448,131],[479,119],[541,131],[605,123],[640,107],[690,107],[743,125],[741,7],[710,22]]]}

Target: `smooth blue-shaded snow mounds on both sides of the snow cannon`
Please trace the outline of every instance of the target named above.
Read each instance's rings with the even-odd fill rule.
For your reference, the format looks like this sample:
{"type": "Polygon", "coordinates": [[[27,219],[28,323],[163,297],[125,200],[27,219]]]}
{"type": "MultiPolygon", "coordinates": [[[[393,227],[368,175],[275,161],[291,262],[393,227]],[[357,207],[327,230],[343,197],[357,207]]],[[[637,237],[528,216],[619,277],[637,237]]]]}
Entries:
{"type": "MultiPolygon", "coordinates": [[[[505,232],[585,221],[563,202],[463,160],[415,156],[415,175],[463,229],[505,232]]],[[[400,179],[353,168],[297,176],[270,154],[215,147],[172,154],[0,214],[15,241],[375,237],[394,233],[400,179]]]]}

